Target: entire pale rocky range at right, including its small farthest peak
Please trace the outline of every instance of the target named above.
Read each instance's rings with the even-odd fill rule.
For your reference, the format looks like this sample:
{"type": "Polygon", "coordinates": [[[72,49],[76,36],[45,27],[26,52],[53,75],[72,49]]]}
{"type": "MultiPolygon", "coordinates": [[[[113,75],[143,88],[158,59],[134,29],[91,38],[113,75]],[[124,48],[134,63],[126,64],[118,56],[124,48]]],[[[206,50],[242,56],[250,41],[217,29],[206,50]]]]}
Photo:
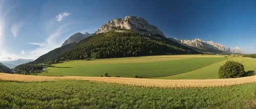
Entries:
{"type": "Polygon", "coordinates": [[[199,38],[194,40],[179,40],[177,38],[169,38],[174,41],[181,43],[182,45],[188,46],[196,51],[211,52],[211,53],[242,53],[239,47],[236,48],[225,48],[221,43],[215,43],[214,41],[202,41],[199,38]]]}

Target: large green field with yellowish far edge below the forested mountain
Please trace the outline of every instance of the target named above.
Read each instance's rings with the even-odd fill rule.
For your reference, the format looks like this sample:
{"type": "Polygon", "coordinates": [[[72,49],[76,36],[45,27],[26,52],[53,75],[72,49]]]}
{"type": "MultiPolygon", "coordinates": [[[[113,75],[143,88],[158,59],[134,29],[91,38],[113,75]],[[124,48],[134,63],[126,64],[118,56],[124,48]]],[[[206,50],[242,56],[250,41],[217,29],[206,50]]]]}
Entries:
{"type": "Polygon", "coordinates": [[[69,61],[49,67],[44,76],[100,76],[109,73],[111,76],[159,77],[196,70],[209,64],[225,60],[224,56],[177,55],[145,56],[133,58],[112,58],[91,61],[69,61]]]}

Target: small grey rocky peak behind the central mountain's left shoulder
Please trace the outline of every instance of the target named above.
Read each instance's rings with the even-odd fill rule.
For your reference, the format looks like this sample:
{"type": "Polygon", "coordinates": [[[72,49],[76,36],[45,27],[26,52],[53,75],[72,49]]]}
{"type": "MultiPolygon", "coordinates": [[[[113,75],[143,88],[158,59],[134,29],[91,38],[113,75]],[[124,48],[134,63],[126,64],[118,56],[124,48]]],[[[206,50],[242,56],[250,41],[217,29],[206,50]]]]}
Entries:
{"type": "Polygon", "coordinates": [[[94,34],[94,33],[90,34],[90,33],[88,33],[88,32],[86,32],[86,33],[84,33],[84,34],[82,34],[82,33],[76,33],[76,34],[70,36],[70,37],[62,44],[62,46],[66,46],[66,45],[68,45],[68,44],[70,44],[70,43],[73,43],[73,42],[77,42],[77,43],[78,43],[78,42],[81,41],[82,39],[87,38],[87,37],[89,37],[89,36],[91,36],[91,35],[93,35],[93,34],[94,34]]]}

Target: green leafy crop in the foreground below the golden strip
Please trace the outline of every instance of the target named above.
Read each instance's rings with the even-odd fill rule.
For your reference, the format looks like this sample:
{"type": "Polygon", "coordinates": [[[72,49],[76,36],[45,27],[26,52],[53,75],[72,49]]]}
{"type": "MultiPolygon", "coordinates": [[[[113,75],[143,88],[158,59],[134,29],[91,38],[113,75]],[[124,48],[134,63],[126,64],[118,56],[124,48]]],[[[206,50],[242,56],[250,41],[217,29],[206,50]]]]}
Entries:
{"type": "Polygon", "coordinates": [[[85,80],[1,81],[0,108],[253,108],[255,85],[163,89],[85,80]]]}

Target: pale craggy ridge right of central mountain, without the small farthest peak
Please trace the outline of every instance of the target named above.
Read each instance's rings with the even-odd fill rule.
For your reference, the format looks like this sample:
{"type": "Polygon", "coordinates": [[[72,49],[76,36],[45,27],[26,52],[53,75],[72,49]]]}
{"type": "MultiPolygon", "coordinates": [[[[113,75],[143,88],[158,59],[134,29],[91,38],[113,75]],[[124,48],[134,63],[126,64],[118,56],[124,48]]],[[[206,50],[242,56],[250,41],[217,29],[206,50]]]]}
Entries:
{"type": "Polygon", "coordinates": [[[214,41],[202,41],[199,38],[194,40],[179,40],[176,38],[170,38],[172,40],[176,40],[177,42],[182,43],[183,45],[189,46],[197,51],[202,52],[211,52],[211,53],[221,53],[225,52],[225,46],[220,43],[215,43],[214,41]]]}

